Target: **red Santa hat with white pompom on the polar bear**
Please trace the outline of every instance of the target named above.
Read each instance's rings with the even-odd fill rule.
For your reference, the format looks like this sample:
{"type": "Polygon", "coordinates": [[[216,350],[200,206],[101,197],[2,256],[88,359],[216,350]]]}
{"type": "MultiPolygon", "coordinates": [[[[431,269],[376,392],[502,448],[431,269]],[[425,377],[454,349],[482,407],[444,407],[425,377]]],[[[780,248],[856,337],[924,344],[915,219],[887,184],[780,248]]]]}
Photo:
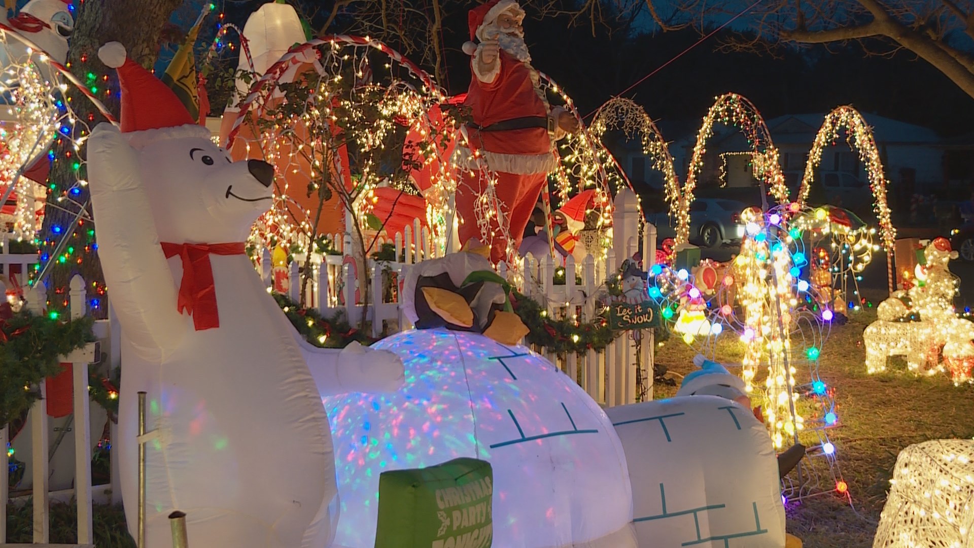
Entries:
{"type": "Polygon", "coordinates": [[[122,88],[120,125],[131,146],[142,148],[165,138],[211,137],[166,84],[129,59],[125,46],[109,42],[98,49],[98,59],[118,72],[122,88]]]}

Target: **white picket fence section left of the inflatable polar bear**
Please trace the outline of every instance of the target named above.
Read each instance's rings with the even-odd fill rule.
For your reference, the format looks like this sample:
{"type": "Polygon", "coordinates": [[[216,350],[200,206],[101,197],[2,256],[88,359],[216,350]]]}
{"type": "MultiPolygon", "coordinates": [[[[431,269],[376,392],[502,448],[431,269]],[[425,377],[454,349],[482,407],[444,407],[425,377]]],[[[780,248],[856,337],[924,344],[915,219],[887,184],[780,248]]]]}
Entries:
{"type": "MultiPolygon", "coordinates": [[[[27,307],[34,314],[45,313],[47,291],[44,284],[37,284],[26,292],[27,307]]],[[[83,317],[88,312],[86,305],[87,294],[85,282],[81,276],[75,276],[70,283],[68,294],[71,318],[83,317]]],[[[96,326],[95,333],[106,336],[107,323],[96,326]]],[[[89,365],[100,358],[100,341],[91,343],[85,348],[76,350],[68,356],[63,356],[62,363],[72,367],[72,394],[74,400],[74,489],[71,494],[78,506],[78,540],[77,544],[49,544],[50,508],[52,493],[49,489],[51,469],[49,466],[49,438],[47,400],[45,399],[45,382],[41,381],[39,390],[41,399],[37,400],[29,411],[30,442],[32,446],[30,470],[32,475],[33,504],[33,544],[6,544],[7,540],[7,502],[9,500],[9,485],[6,475],[0,481],[0,548],[15,546],[62,546],[94,548],[93,532],[93,491],[92,491],[92,431],[89,427],[91,409],[88,393],[89,365]]],[[[100,433],[99,433],[100,434],[100,433]]],[[[8,426],[0,429],[0,448],[6,450],[8,444],[8,426]]],[[[6,454],[6,453],[5,453],[6,454]]],[[[5,456],[6,458],[6,456],[5,456]]],[[[6,463],[6,462],[5,462],[6,463]]]]}

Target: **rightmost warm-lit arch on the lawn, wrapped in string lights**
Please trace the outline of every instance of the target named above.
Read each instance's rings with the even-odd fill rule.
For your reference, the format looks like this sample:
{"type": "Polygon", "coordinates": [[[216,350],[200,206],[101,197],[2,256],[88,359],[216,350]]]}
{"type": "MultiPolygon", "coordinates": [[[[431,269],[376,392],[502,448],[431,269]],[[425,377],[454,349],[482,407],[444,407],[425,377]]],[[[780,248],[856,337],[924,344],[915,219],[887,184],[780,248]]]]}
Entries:
{"type": "Polygon", "coordinates": [[[866,120],[851,106],[840,106],[825,116],[821,129],[815,136],[811,150],[808,151],[808,162],[805,164],[805,176],[799,188],[797,202],[804,207],[811,189],[811,182],[815,179],[815,172],[822,161],[822,151],[829,144],[835,144],[840,133],[845,129],[845,142],[849,147],[859,152],[859,159],[866,167],[869,176],[869,186],[873,191],[873,210],[880,222],[880,239],[886,252],[886,278],[889,292],[896,289],[893,277],[893,251],[896,247],[896,228],[890,218],[889,205],[886,201],[886,176],[884,175],[880,151],[866,120]]]}

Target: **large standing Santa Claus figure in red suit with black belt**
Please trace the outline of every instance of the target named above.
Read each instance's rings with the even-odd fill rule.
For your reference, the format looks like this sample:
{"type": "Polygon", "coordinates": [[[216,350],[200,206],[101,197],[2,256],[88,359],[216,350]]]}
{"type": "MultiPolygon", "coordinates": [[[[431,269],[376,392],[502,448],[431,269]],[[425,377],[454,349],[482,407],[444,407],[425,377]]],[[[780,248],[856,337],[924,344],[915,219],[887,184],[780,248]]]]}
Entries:
{"type": "Polygon", "coordinates": [[[506,259],[508,248],[518,249],[547,174],[557,166],[554,143],[579,127],[570,112],[552,108],[544,97],[522,20],[524,10],[514,0],[490,0],[469,13],[470,39],[479,44],[464,44],[473,58],[465,101],[473,122],[469,148],[458,148],[468,168],[456,197],[460,241],[485,237],[494,262],[506,259]],[[493,194],[487,191],[491,179],[493,194]]]}

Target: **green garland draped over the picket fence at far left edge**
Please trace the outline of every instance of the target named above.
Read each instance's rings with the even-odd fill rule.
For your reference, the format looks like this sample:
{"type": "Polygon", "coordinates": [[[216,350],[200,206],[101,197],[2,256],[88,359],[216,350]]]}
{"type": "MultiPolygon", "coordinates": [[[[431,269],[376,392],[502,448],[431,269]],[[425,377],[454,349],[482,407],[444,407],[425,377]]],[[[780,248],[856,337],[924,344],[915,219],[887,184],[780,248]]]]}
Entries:
{"type": "Polygon", "coordinates": [[[92,318],[58,322],[56,313],[21,310],[0,323],[0,424],[7,424],[40,397],[41,380],[61,372],[58,357],[94,342],[94,333],[92,318]]]}

